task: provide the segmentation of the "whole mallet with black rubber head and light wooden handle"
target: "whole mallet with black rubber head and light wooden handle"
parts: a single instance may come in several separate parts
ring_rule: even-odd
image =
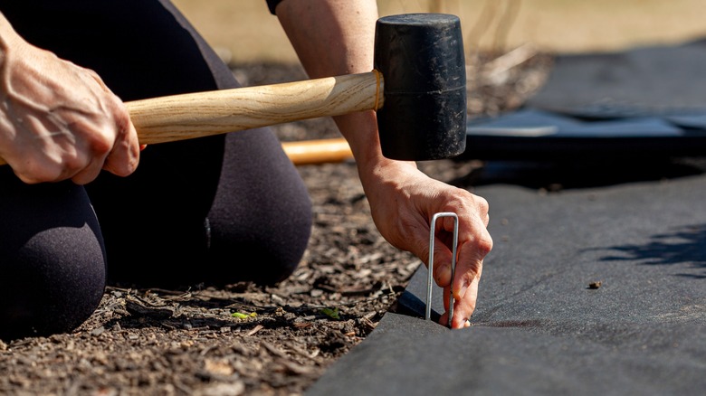
[[[375,36],[374,70],[367,73],[126,102],[139,142],[376,110],[386,157],[423,161],[463,153],[466,73],[459,18],[385,16],[377,20]]]

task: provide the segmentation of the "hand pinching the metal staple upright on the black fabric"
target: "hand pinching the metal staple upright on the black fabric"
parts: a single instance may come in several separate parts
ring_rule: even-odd
[[[428,264],[429,227],[434,213],[458,215],[458,245],[453,279],[453,328],[469,325],[475,309],[483,258],[492,249],[486,227],[488,203],[466,190],[444,184],[419,171],[413,163],[387,161],[373,174],[361,178],[370,203],[373,220],[385,239],[401,250],[415,254]],[[453,218],[436,222],[434,240],[434,279],[444,288],[443,325],[448,324]]]

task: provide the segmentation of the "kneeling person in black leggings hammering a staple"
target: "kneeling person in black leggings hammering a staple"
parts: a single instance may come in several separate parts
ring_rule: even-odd
[[[267,4],[310,78],[372,70],[374,0]],[[106,284],[291,275],[310,238],[311,203],[270,129],[138,142],[125,101],[239,86],[175,5],[0,0],[0,13],[0,338],[75,329]],[[468,325],[492,248],[488,203],[382,156],[375,112],[335,121],[392,245],[426,261],[432,215],[459,215],[453,327]],[[434,278],[448,296],[446,219]]]

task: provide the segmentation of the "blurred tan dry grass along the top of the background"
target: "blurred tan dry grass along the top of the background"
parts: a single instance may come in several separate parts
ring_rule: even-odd
[[[173,0],[206,41],[233,62],[294,62],[264,0]],[[706,36],[703,0],[378,0],[381,15],[444,12],[461,17],[469,50],[616,51]]]

